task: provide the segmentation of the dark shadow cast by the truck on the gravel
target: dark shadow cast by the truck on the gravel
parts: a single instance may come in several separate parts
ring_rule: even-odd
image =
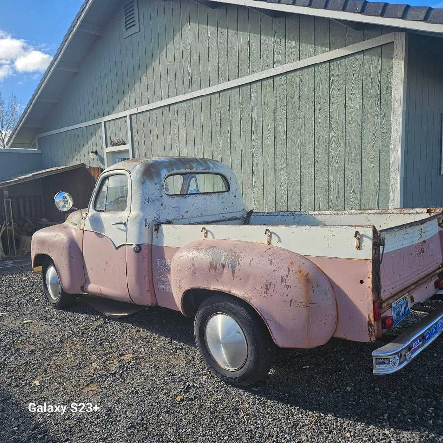
[[[156,307],[119,321],[196,347],[193,318],[178,312]],[[343,420],[436,433],[442,416],[443,362],[438,356],[443,340],[390,376],[372,375],[371,352],[380,346],[333,339],[315,349],[281,350],[266,378],[244,390]]]

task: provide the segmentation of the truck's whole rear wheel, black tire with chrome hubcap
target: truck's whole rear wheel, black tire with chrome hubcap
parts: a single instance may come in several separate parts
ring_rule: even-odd
[[[204,362],[226,383],[251,385],[274,363],[276,346],[262,319],[235,297],[207,298],[195,316],[194,332]]]

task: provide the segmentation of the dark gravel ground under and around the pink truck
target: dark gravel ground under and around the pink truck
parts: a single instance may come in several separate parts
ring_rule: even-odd
[[[179,313],[57,311],[29,264],[0,263],[0,305],[0,442],[443,442],[442,338],[396,375],[371,375],[380,344],[333,340],[238,389],[205,369]]]

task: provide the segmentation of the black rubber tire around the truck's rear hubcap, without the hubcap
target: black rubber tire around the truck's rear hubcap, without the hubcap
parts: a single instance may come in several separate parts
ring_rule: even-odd
[[[205,328],[215,314],[226,314],[240,326],[247,343],[247,357],[236,370],[223,368],[213,358],[206,342]],[[203,301],[194,322],[197,348],[208,368],[221,380],[235,386],[249,386],[262,379],[271,369],[276,346],[265,324],[254,309],[233,296],[219,294]]]

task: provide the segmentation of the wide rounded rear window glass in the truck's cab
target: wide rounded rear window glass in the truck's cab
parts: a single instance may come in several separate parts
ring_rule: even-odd
[[[210,194],[227,192],[229,184],[220,174],[186,173],[166,177],[163,189],[167,195]]]

